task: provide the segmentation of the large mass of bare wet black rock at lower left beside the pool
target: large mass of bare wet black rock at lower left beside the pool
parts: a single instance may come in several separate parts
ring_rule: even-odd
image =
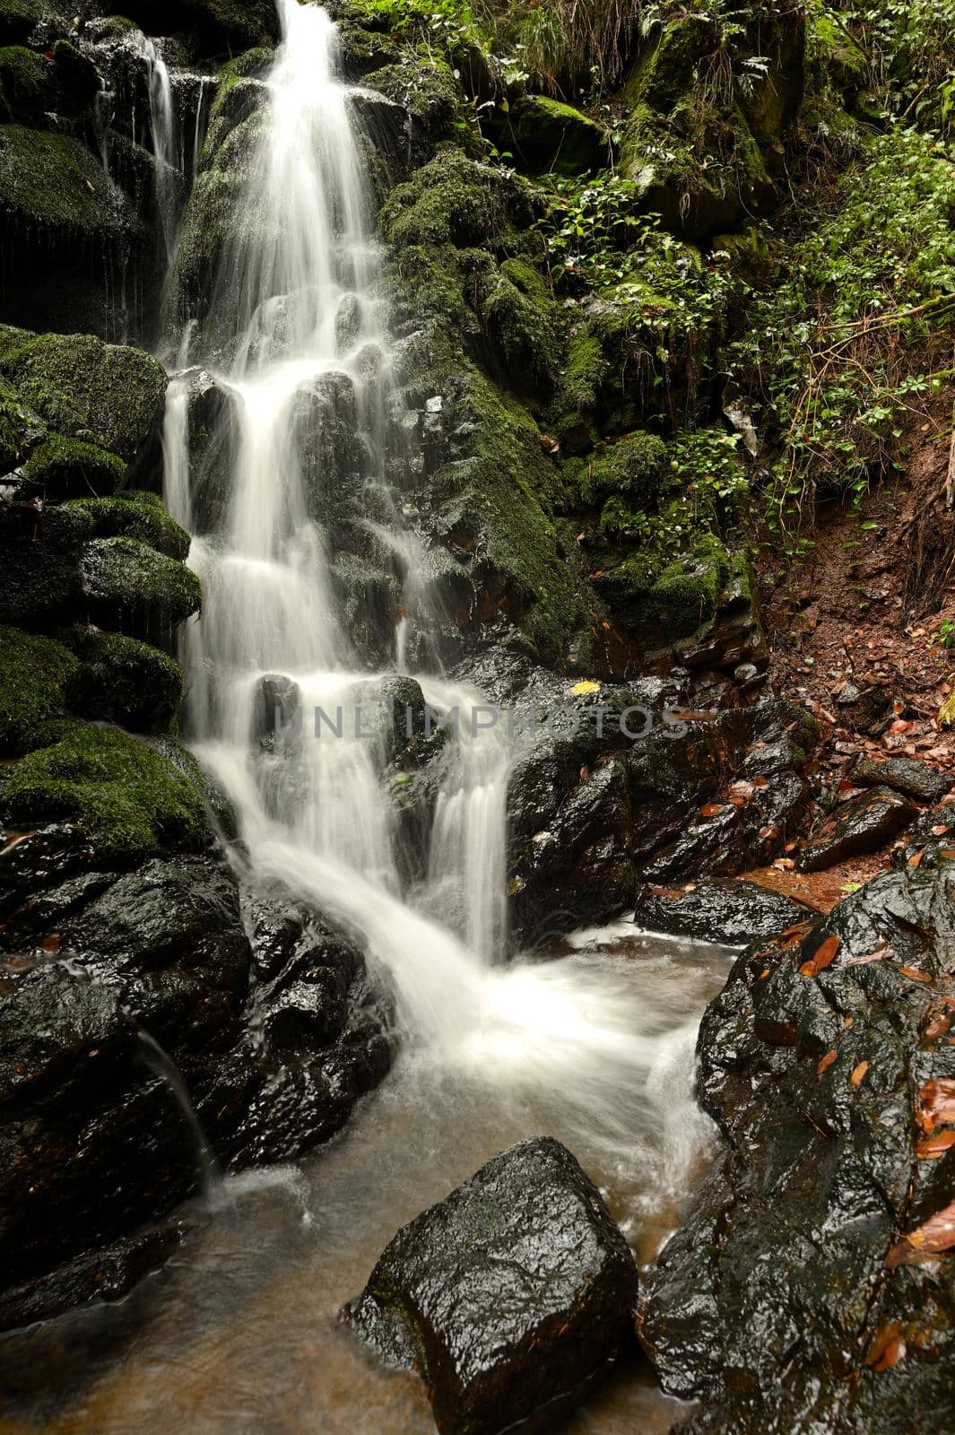
[[[196,1190],[195,1142],[141,1032],[175,1060],[235,1170],[333,1135],[391,1046],[361,956],[281,894],[242,900],[211,851],[118,871],[52,824],[7,841],[0,871],[0,1326],[11,1326],[122,1294],[168,1253],[138,1228]]]

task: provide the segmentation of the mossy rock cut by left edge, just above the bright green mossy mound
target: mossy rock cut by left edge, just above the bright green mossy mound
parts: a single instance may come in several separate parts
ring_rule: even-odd
[[[0,756],[54,742],[66,725],[63,686],[76,659],[49,637],[0,629]]]

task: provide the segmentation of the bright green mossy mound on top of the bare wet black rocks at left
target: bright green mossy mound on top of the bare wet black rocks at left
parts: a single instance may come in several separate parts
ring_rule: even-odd
[[[76,725],[3,773],[6,821],[76,822],[108,860],[201,851],[209,834],[202,798],[162,753],[106,728]]]

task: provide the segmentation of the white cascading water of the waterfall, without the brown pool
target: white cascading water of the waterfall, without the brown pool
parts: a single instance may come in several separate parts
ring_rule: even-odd
[[[437,799],[427,878],[410,893],[394,861],[380,745],[311,738],[315,705],[341,707],[348,719],[371,679],[336,613],[328,534],[297,416],[323,376],[344,376],[336,382],[354,393],[369,479],[380,488],[393,395],[369,197],[348,90],[336,77],[336,30],[320,9],[297,0],[278,0],[278,9],[284,43],[267,82],[245,222],[224,255],[221,309],[211,316],[238,314],[231,367],[218,373],[238,419],[228,511],[189,560],[205,596],[185,649],[195,748],[241,814],[254,874],[354,933],[393,984],[412,1048],[449,1072],[480,1073],[502,1093],[548,1092],[551,1105],[556,1093],[564,1129],[586,1131],[619,1161],[632,1152],[638,1114],[645,1119],[648,1105],[660,1106],[674,1132],[662,1194],[680,1188],[698,1154],[698,1142],[690,1152],[680,1135],[687,1124],[698,1135],[691,1030],[674,1035],[673,1013],[664,1020],[619,971],[579,961],[502,964],[509,752],[498,730],[472,732],[480,695],[416,674],[433,707],[457,709],[460,740]],[[371,364],[369,352],[377,354]],[[318,475],[320,486],[323,476],[331,481]],[[166,498],[188,522],[185,390],[175,382]],[[397,527],[390,534],[379,537],[413,565],[419,541]],[[409,583],[414,588],[406,575],[406,591]],[[409,623],[427,611],[420,584],[414,610],[396,634],[399,657]],[[268,673],[294,680],[305,722],[298,743],[264,755],[251,730]]]

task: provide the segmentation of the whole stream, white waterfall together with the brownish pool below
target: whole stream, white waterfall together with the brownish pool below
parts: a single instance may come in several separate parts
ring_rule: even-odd
[[[300,1167],[231,1177],[181,1257],[120,1306],[70,1313],[3,1346],[16,1370],[4,1432],[430,1431],[410,1378],[377,1369],[336,1329],[394,1230],[526,1135],[552,1134],[604,1190],[648,1257],[705,1159],[691,1098],[693,1042],[726,973],[720,949],[645,938],[631,924],[581,934],[552,960],[505,964],[508,742],[472,733],[480,695],[449,683],[429,651],[419,540],[384,504],[397,397],[376,301],[380,260],[333,23],[278,0],[284,30],[268,76],[245,215],[206,333],[184,336],[231,403],[228,504],[194,540],[204,613],[189,626],[188,733],[241,818],[252,880],[282,884],[354,933],[394,990],[403,1052],[348,1131]],[[156,105],[165,105],[156,70]],[[231,327],[229,327],[231,326]],[[413,604],[390,666],[460,740],[443,769],[426,877],[406,888],[381,745],[311,736],[313,709],[344,732],[383,674],[354,651],[334,600],[323,482],[308,435],[324,396],[346,395],[367,489],[369,534],[404,554]],[[317,416],[317,418],[315,418]],[[186,390],[174,379],[166,501],[194,528]],[[324,448],[321,448],[324,452]],[[410,616],[409,616],[410,614]],[[409,641],[409,624],[424,641]],[[278,674],[305,713],[297,742],[262,751],[260,689]],[[52,1369],[54,1375],[50,1375]],[[598,1395],[572,1429],[665,1429],[647,1379]]]

